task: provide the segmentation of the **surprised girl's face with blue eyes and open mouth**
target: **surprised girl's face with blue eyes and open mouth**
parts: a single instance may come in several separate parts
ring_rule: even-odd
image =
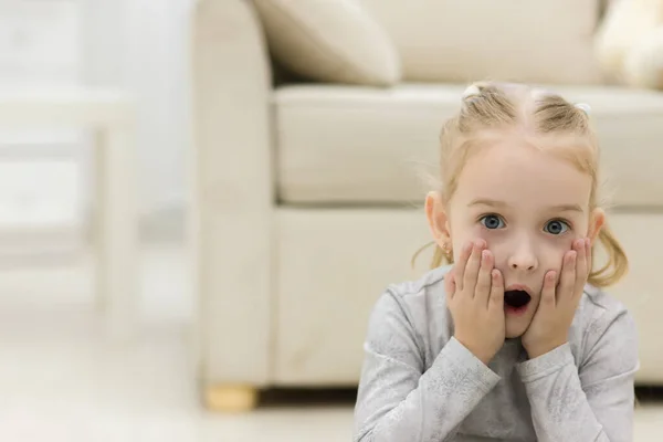
[[[434,211],[438,242],[451,239],[454,261],[463,244],[481,238],[495,256],[505,288],[527,287],[527,307],[505,309],[507,337],[525,333],[539,304],[544,275],[550,270],[559,274],[572,241],[596,238],[603,213],[589,212],[590,191],[591,177],[570,161],[512,137],[472,155],[449,206]]]

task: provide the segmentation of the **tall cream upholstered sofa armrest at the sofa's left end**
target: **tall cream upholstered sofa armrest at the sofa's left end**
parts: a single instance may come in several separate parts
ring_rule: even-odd
[[[191,24],[198,370],[208,386],[260,386],[271,311],[270,60],[250,1],[200,0]]]

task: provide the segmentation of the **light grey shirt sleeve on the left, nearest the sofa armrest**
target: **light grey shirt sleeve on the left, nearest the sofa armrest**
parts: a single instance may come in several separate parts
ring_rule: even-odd
[[[448,441],[499,377],[455,338],[424,372],[417,333],[396,296],[377,303],[364,345],[355,442]]]

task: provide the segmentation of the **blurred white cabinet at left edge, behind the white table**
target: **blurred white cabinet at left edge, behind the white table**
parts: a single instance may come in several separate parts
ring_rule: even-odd
[[[77,19],[76,0],[0,1],[0,88],[76,84]],[[60,241],[80,227],[80,135],[0,128],[0,255],[25,252],[25,239],[43,244],[57,232]]]

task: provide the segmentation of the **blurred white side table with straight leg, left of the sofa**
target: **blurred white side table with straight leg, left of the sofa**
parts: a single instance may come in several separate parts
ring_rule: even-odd
[[[131,336],[138,309],[134,113],[120,92],[0,91],[0,129],[69,127],[95,135],[96,296],[114,339]]]

